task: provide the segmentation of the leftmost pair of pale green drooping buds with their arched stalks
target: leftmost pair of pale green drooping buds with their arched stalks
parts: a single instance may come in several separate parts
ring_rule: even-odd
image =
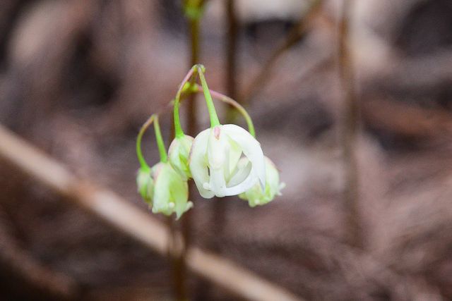
[[[153,122],[160,162],[150,168],[141,153],[141,139],[145,130]],[[176,213],[177,219],[179,219],[185,211],[193,207],[193,203],[188,200],[189,188],[186,180],[174,171],[167,161],[167,153],[160,133],[157,115],[151,116],[141,127],[136,142],[136,152],[141,164],[136,180],[141,197],[152,207],[153,213],[165,215]]]

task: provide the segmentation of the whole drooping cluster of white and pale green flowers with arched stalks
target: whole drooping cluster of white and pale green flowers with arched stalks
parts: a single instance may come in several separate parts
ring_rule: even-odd
[[[256,140],[254,125],[245,109],[233,99],[210,91],[202,65],[195,65],[182,81],[174,98],[175,137],[165,145],[160,132],[158,115],[153,114],[141,127],[136,142],[138,170],[138,192],[153,213],[176,214],[179,219],[193,207],[189,201],[188,180],[193,179],[201,197],[225,197],[238,195],[251,207],[267,204],[280,195],[285,186],[280,182],[275,164],[263,155]],[[199,78],[201,85],[196,83]],[[179,104],[182,97],[190,93],[203,92],[210,117],[210,128],[196,137],[185,135],[179,119]],[[212,96],[232,104],[246,119],[249,130],[234,124],[220,124]],[[148,166],[141,152],[143,133],[154,124],[160,162]]]

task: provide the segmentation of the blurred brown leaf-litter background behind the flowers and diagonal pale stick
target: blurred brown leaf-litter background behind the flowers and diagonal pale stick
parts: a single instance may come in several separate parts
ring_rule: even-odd
[[[256,208],[191,194],[189,219],[172,223],[191,245],[300,300],[452,300],[452,2],[202,5],[194,58],[182,1],[2,0],[1,125],[148,212],[136,135],[162,112],[169,144],[167,104],[197,59],[211,89],[249,109],[287,186]],[[182,114],[199,132],[195,104],[196,124]],[[158,160],[152,131],[144,149]],[[165,256],[1,152],[0,192],[1,300],[173,300]],[[191,300],[242,300],[185,277]]]

